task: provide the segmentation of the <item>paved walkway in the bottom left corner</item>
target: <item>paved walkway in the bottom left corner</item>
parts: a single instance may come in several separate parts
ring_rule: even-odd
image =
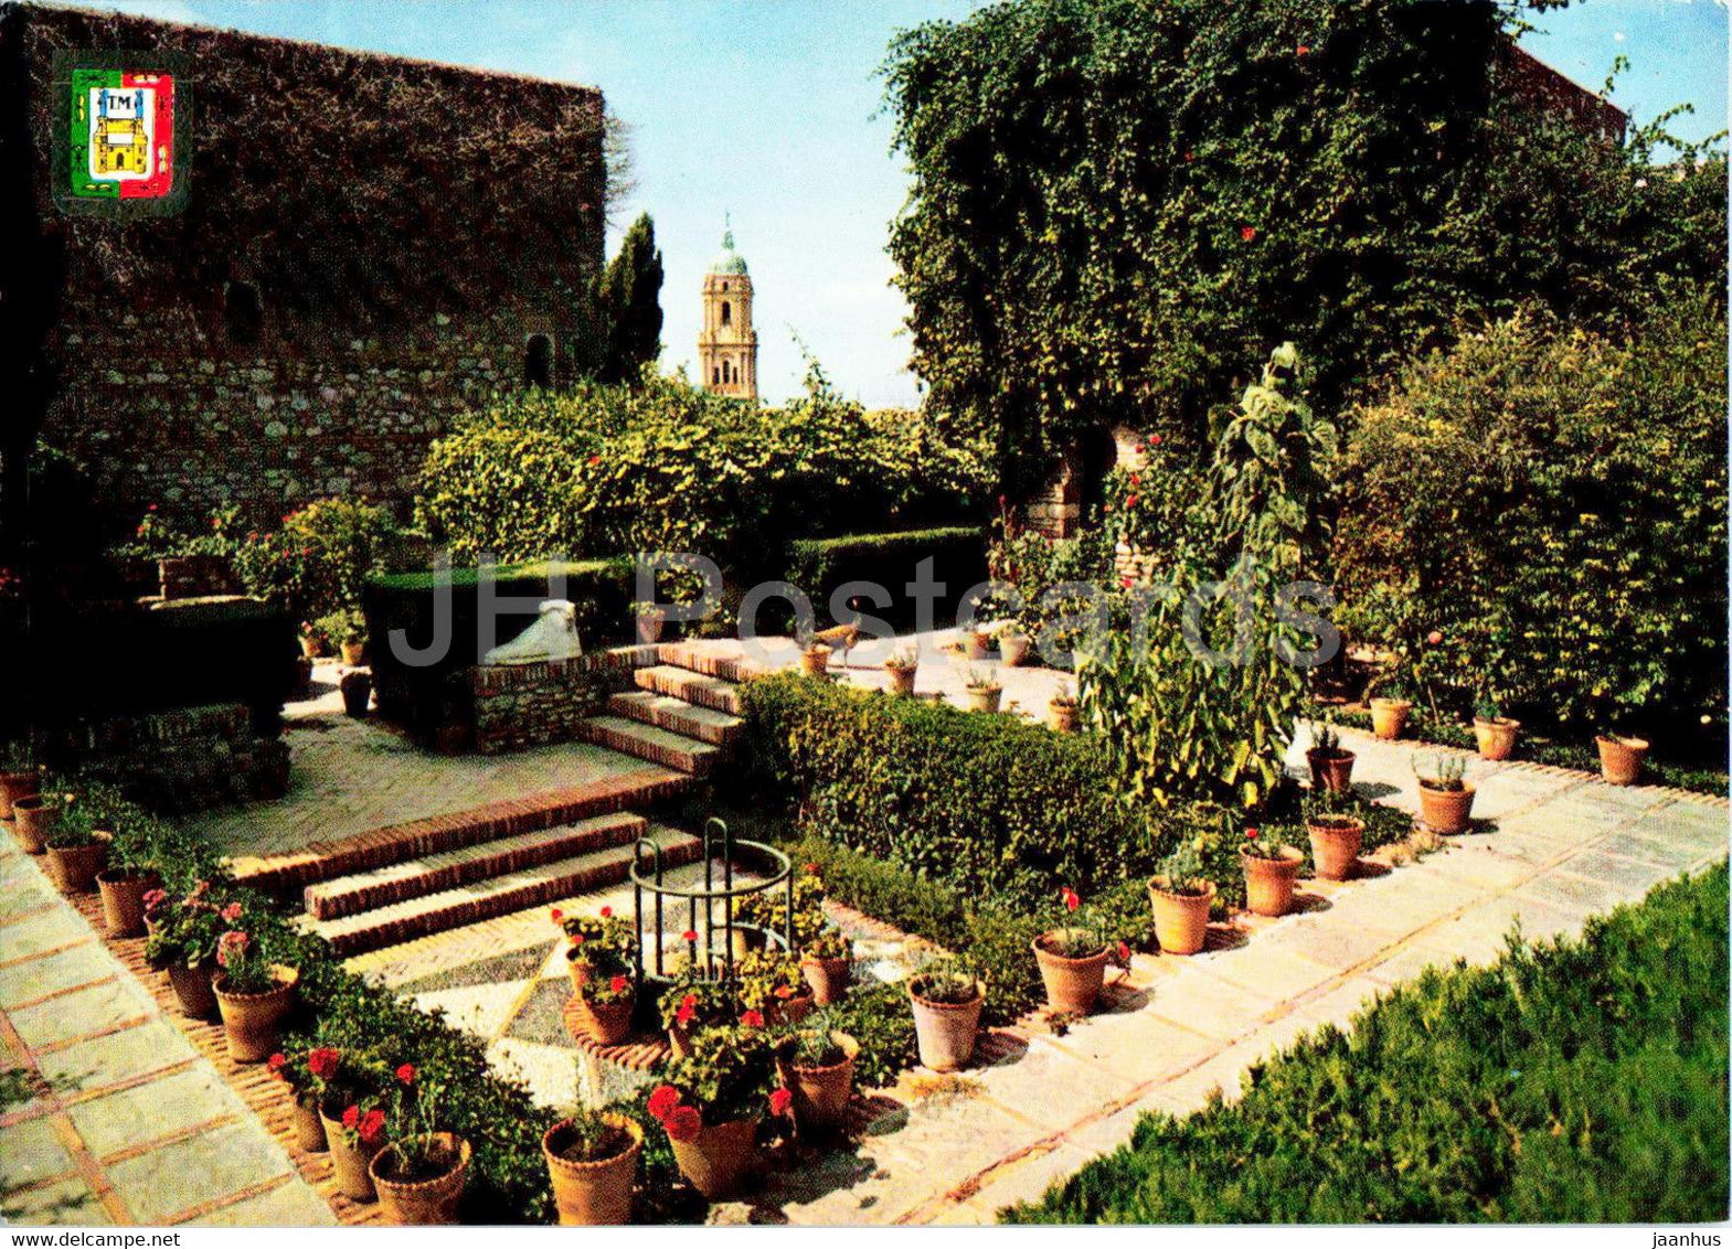
[[[133,942],[142,944],[142,942]],[[216,1065],[0,830],[0,1220],[333,1225]]]

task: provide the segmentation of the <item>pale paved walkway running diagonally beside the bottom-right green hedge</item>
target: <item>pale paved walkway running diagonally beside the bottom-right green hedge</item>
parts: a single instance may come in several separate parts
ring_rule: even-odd
[[[1408,743],[1347,733],[1354,780],[1415,807]],[[1296,760],[1299,750],[1296,748]],[[856,1149],[774,1176],[757,1211],[795,1223],[991,1223],[1089,1157],[1131,1138],[1148,1110],[1185,1114],[1254,1062],[1325,1024],[1346,1024],[1379,993],[1455,958],[1491,961],[1510,925],[1529,937],[1580,932],[1585,918],[1642,897],[1727,854],[1723,800],[1612,788],[1581,773],[1522,764],[1469,769],[1476,816],[1493,832],[1368,878],[1302,885],[1306,909],[1242,920],[1249,941],[1211,941],[1195,958],[1138,956],[1110,1013],[960,1079],[906,1079]]]

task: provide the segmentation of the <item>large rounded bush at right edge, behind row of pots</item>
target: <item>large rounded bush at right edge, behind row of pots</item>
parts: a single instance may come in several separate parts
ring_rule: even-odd
[[[1349,443],[1342,624],[1457,715],[1723,733],[1720,300],[1668,288],[1626,340],[1529,310],[1417,360]]]

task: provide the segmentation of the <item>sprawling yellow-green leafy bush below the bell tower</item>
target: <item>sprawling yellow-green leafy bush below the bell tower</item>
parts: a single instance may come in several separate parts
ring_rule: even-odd
[[[471,414],[430,450],[416,514],[457,560],[693,551],[757,580],[792,534],[958,521],[984,499],[982,457],[937,421],[821,379],[771,409],[653,378]]]

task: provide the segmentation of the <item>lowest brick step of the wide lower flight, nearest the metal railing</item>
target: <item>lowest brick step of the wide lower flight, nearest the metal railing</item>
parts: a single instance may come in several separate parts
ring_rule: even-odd
[[[662,861],[670,866],[696,863],[703,852],[703,842],[672,828],[653,828],[650,840],[662,847]],[[632,845],[610,845],[604,851],[556,859],[461,889],[409,897],[360,915],[345,915],[336,920],[301,916],[296,923],[305,932],[329,941],[338,956],[350,958],[369,949],[397,946],[433,932],[461,929],[511,911],[549,906],[573,894],[617,885],[630,875],[632,851]]]

